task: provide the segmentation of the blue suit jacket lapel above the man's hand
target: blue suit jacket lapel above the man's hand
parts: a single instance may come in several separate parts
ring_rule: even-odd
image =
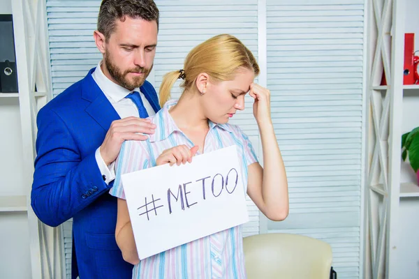
[[[91,102],[90,105],[86,107],[86,112],[107,131],[109,130],[112,121],[121,118],[91,76],[94,70],[95,68],[91,69],[83,79],[82,98]]]

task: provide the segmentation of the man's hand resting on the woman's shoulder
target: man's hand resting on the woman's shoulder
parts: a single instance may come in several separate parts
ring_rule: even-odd
[[[154,134],[155,129],[156,125],[149,119],[140,119],[135,116],[113,121],[101,145],[103,161],[106,165],[110,165],[117,158],[124,141],[147,140],[147,135]]]

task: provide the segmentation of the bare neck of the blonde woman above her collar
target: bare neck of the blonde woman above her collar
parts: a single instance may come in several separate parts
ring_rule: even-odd
[[[200,106],[195,92],[182,93],[177,104],[170,109],[170,115],[180,130],[208,130],[208,119]]]

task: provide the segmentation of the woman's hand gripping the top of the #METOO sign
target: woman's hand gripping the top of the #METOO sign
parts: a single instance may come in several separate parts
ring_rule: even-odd
[[[156,159],[156,165],[164,165],[169,163],[172,165],[186,164],[186,162],[191,163],[192,157],[195,156],[198,151],[198,146],[193,146],[189,149],[186,145],[178,145],[172,147],[171,149],[166,149],[161,153],[159,158]]]

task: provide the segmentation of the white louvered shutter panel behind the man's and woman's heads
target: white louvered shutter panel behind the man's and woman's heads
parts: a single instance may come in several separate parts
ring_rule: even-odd
[[[47,20],[50,35],[50,58],[54,96],[82,79],[102,58],[96,49],[93,31],[101,1],[47,0]],[[184,58],[192,47],[219,33],[230,33],[243,41],[258,56],[257,0],[179,0],[159,1],[161,12],[159,43],[154,70],[149,81],[159,91],[162,77],[170,70],[183,67]],[[179,97],[179,82],[172,97]],[[258,153],[258,128],[247,97],[247,109],[236,114],[232,123],[240,125]],[[259,219],[256,206],[248,199],[250,222],[244,235],[258,234]],[[71,221],[64,226],[67,276],[71,272]]]

